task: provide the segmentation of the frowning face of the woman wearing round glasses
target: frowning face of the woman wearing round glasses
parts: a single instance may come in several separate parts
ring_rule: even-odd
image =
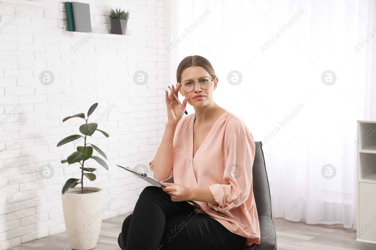
[[[203,76],[211,78],[209,73],[201,66],[191,66],[183,70],[181,81],[192,80],[194,83],[194,89],[190,92],[185,92],[181,87],[179,93],[184,97],[189,97],[188,103],[194,107],[202,107],[208,105],[213,100],[213,91],[217,88],[218,78],[215,78],[210,88],[203,89],[199,87],[198,81]],[[212,79],[212,78],[211,78]],[[180,84],[182,83],[180,82]],[[203,95],[202,98],[194,98],[197,95]]]

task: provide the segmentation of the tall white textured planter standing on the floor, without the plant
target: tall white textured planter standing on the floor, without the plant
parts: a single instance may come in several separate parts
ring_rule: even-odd
[[[97,246],[103,214],[103,189],[71,187],[61,195],[65,228],[71,247],[89,250]]]

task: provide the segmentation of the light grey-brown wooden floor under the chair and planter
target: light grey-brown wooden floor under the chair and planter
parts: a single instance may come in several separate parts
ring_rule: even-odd
[[[121,225],[129,215],[103,220],[97,246],[93,250],[120,250],[117,238],[121,232]],[[308,225],[304,222],[290,222],[283,218],[277,220],[278,250],[375,250],[375,244],[355,241],[356,231],[346,229],[341,225]],[[278,225],[278,224],[277,224]],[[71,250],[66,232],[50,235],[29,241],[8,250]]]

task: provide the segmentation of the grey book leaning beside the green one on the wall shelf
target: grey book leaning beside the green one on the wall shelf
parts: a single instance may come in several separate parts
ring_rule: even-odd
[[[90,6],[72,2],[74,31],[91,32]]]

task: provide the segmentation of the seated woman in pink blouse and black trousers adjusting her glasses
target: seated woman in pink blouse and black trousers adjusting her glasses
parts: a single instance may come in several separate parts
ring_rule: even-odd
[[[168,121],[149,163],[167,187],[147,186],[141,192],[123,222],[121,249],[235,250],[259,244],[252,134],[214,102],[218,78],[206,58],[184,58],[176,79],[176,88],[172,85],[169,95],[166,90]],[[173,93],[185,97],[182,107]],[[187,102],[195,112],[183,117]],[[174,183],[163,182],[171,177]]]

